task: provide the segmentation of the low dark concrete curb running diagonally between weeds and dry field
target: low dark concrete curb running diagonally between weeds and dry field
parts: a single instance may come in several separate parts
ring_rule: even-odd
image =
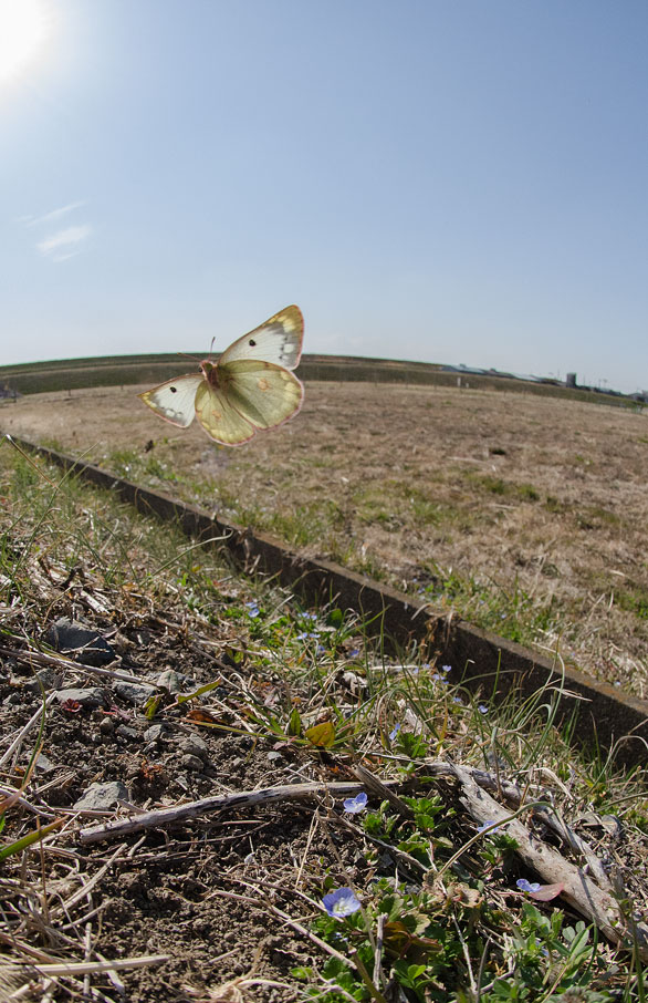
[[[335,600],[343,609],[355,610],[370,622],[370,635],[386,649],[397,651],[416,643],[426,658],[452,665],[453,681],[461,680],[473,691],[481,689],[489,697],[503,699],[518,687],[523,695],[530,695],[562,679],[556,664],[543,655],[459,619],[439,617],[418,599],[339,565],[305,558],[265,534],[211,518],[198,508],[138,487],[84,461],[13,438],[23,448],[115,492],[140,513],[176,523],[187,535],[206,541],[224,537],[219,546],[226,547],[247,572],[276,576],[305,601]],[[648,762],[647,701],[575,669],[565,669],[564,689],[560,718],[577,717],[573,727],[576,744],[590,748],[598,745],[605,751],[616,744],[615,762],[630,766]]]

